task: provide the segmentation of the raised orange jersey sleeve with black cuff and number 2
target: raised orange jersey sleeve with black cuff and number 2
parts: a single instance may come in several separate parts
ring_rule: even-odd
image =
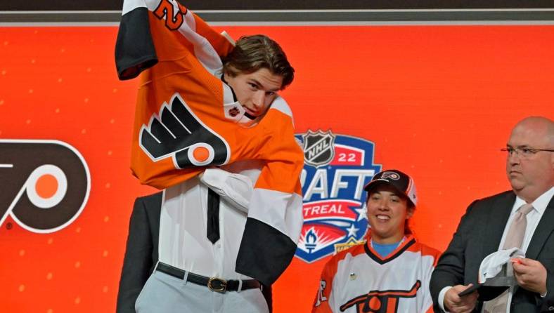
[[[164,44],[157,44],[163,39]],[[199,48],[200,47],[200,48]],[[115,65],[121,80],[133,79],[157,62],[188,53],[205,67],[221,67],[219,56],[233,48],[192,11],[174,0],[125,0],[115,44]]]

